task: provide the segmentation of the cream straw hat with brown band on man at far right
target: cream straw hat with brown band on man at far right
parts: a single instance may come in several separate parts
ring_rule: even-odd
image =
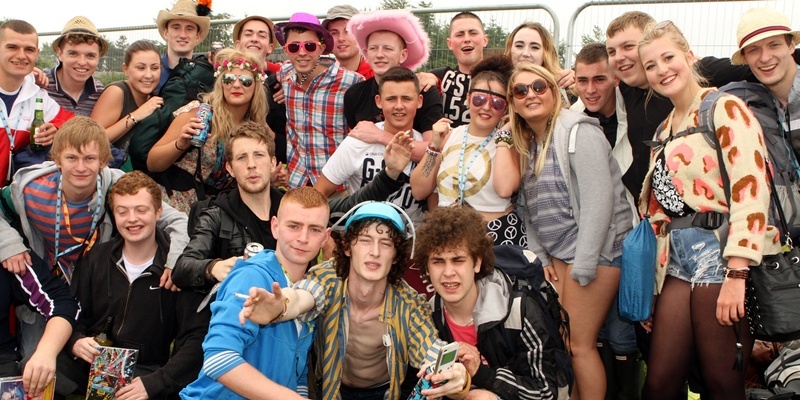
[[[736,43],[739,50],[731,56],[732,64],[746,64],[742,56],[745,47],[772,36],[792,35],[795,44],[800,43],[800,31],[793,31],[789,18],[771,8],[752,8],[742,14],[736,28]]]

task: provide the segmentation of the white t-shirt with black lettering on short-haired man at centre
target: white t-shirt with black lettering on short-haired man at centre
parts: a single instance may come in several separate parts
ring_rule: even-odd
[[[383,122],[375,124],[378,129],[383,129]],[[421,141],[422,134],[413,131],[414,140]],[[369,144],[353,137],[346,137],[342,144],[336,148],[331,158],[322,168],[322,174],[331,183],[341,185],[347,182],[350,193],[354,193],[362,186],[370,183],[372,179],[383,169],[383,152],[386,146],[382,144]],[[411,170],[417,163],[410,162],[406,165],[403,172],[411,175]],[[406,183],[397,192],[389,196],[386,201],[390,201],[408,214],[409,218],[416,224],[422,221],[422,202],[414,200],[411,195],[411,184]]]

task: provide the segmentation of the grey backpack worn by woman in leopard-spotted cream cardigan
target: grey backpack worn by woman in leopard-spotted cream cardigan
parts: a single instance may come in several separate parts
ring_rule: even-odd
[[[702,133],[706,142],[716,148],[717,138],[714,127],[714,109],[717,100],[724,94],[734,95],[750,108],[764,132],[767,153],[773,171],[776,193],[789,227],[800,225],[800,165],[789,142],[787,133],[778,122],[778,110],[769,90],[761,84],[733,82],[722,86],[703,98],[698,110],[698,126],[687,134]],[[659,127],[659,130],[661,128]],[[656,136],[657,138],[658,136]],[[770,211],[770,222],[777,221],[776,210]],[[783,232],[784,235],[786,232]]]

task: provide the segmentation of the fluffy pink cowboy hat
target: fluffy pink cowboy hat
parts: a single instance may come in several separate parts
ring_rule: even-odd
[[[381,10],[360,13],[347,23],[350,32],[358,43],[361,54],[366,56],[367,38],[377,31],[398,34],[406,43],[408,58],[400,65],[414,71],[428,61],[430,39],[419,18],[406,10]]]

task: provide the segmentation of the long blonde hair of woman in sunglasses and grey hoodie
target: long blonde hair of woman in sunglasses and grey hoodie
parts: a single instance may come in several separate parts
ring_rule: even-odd
[[[530,146],[531,141],[534,140],[533,129],[531,129],[530,125],[528,125],[528,122],[520,117],[520,115],[517,114],[517,111],[514,109],[513,88],[514,85],[518,83],[517,77],[522,72],[531,72],[544,79],[548,85],[547,94],[553,97],[553,113],[550,114],[550,119],[548,120],[546,128],[547,130],[542,139],[542,151],[540,152],[540,157],[537,157],[536,165],[533,169],[534,173],[538,175],[539,171],[541,171],[542,167],[544,166],[544,160],[546,158],[544,155],[547,154],[547,149],[550,147],[550,142],[553,139],[553,127],[556,124],[556,119],[558,119],[558,114],[561,112],[561,109],[565,107],[565,103],[564,99],[561,97],[561,93],[558,90],[556,78],[547,69],[531,63],[522,63],[514,69],[514,73],[511,74],[511,79],[508,81],[506,97],[508,98],[508,104],[510,105],[512,111],[509,113],[511,137],[514,141],[514,148],[517,149],[517,152],[519,153],[520,174],[525,174],[525,169],[528,167],[528,163],[530,163]],[[531,89],[528,88],[528,90]]]

